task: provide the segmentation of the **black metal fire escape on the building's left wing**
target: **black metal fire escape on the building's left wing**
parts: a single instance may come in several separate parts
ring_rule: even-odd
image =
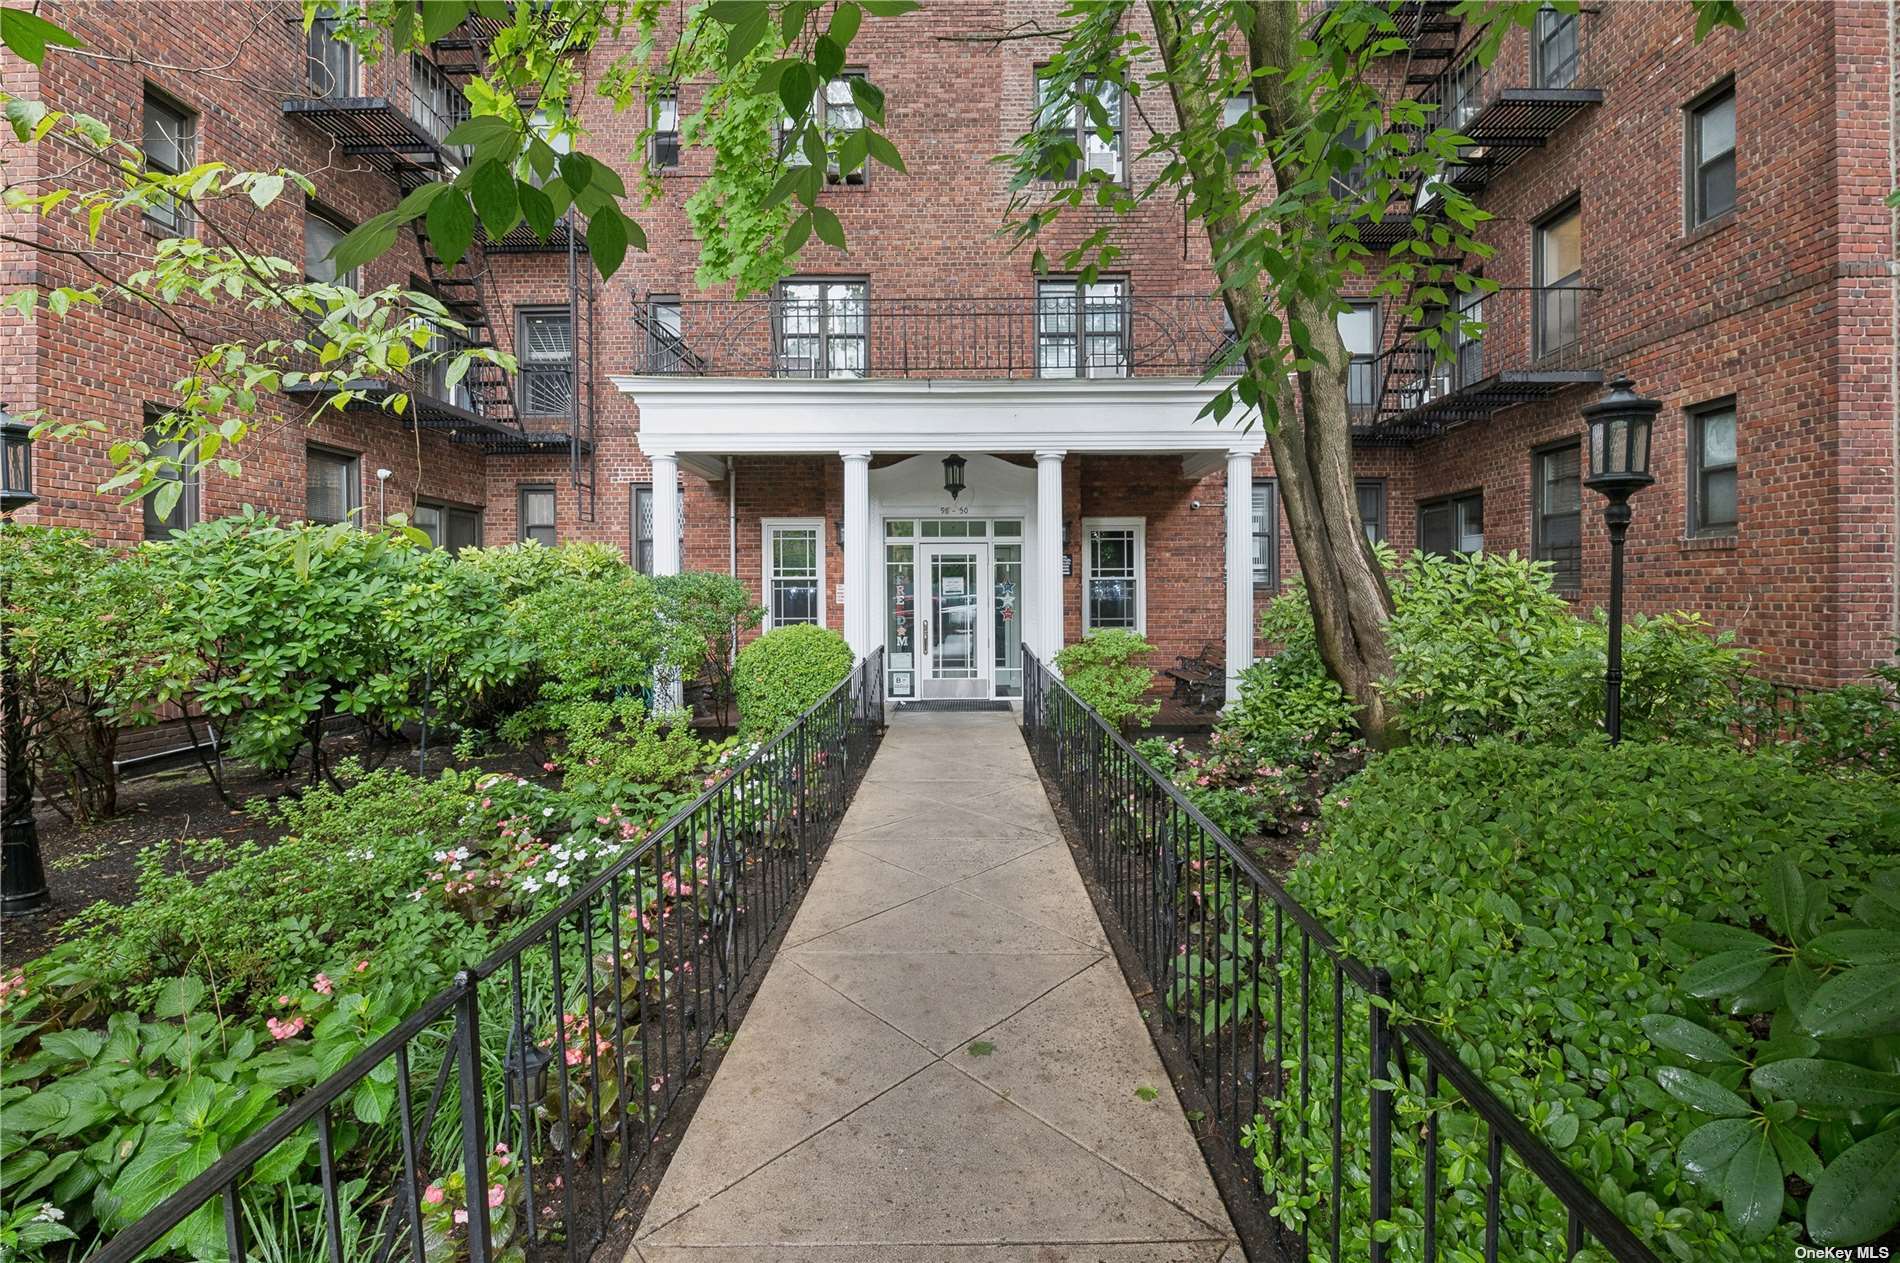
[[[428,55],[365,65],[353,47],[334,38],[332,23],[317,21],[308,40],[308,95],[283,103],[287,118],[300,120],[327,135],[340,156],[355,158],[386,175],[401,194],[431,180],[454,179],[467,160],[462,146],[446,142],[467,118],[462,84],[477,74],[494,23],[473,17],[429,46]],[[439,329],[452,348],[498,349],[496,321],[505,319],[492,260],[504,254],[566,254],[568,355],[553,389],[545,382],[538,399],[560,399],[560,410],[524,410],[519,374],[477,359],[467,374],[450,384],[446,365],[429,361],[405,380],[352,382],[363,406],[380,408],[388,395],[403,391],[408,408],[403,425],[446,435],[494,456],[566,456],[583,522],[595,520],[595,287],[585,260],[583,228],[574,213],[547,241],[524,226],[490,241],[477,234],[475,245],[446,262],[428,237],[424,220],[410,226],[424,272],[410,277],[412,289],[433,294],[462,329]],[[431,344],[431,346],[439,346]],[[519,348],[517,348],[519,351]]]

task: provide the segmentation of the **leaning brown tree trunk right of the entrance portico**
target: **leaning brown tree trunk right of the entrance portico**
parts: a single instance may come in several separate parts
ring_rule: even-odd
[[[1168,87],[1180,118],[1220,118],[1220,103],[1208,99],[1203,87],[1212,80],[1205,65],[1206,44],[1182,27],[1180,9],[1168,0],[1150,0],[1155,23],[1155,42],[1167,66]],[[1281,0],[1256,0],[1250,21],[1248,63],[1256,72],[1256,108],[1262,110],[1271,135],[1290,135],[1303,125],[1305,103],[1286,89],[1281,66],[1292,63],[1296,23],[1302,6]],[[1260,74],[1273,68],[1269,74]],[[1212,112],[1212,114],[1208,114]],[[1233,207],[1235,199],[1222,192],[1231,175],[1218,173],[1201,154],[1184,152],[1188,179],[1195,201],[1205,207]],[[1227,169],[1231,171],[1231,169]],[[1292,163],[1275,169],[1281,186],[1305,173]],[[1216,209],[1203,215],[1214,258],[1243,258],[1241,243],[1246,226],[1231,211]],[[1222,292],[1235,329],[1258,329],[1256,317],[1267,306],[1260,285],[1262,268],[1244,262],[1233,266],[1233,275],[1222,277]],[[1393,745],[1396,733],[1379,693],[1379,680],[1391,670],[1385,648],[1385,621],[1393,612],[1391,589],[1379,570],[1358,520],[1358,496],[1353,486],[1353,422],[1347,408],[1345,344],[1324,300],[1296,296],[1281,313],[1290,325],[1298,321],[1309,334],[1317,370],[1298,374],[1300,391],[1279,378],[1277,348],[1248,340],[1244,372],[1258,387],[1260,399],[1279,401],[1279,425],[1267,431],[1273,452],[1273,473],[1279,479],[1281,503],[1300,558],[1300,574],[1307,600],[1313,606],[1313,631],[1326,669],[1358,707],[1358,726],[1374,746]]]

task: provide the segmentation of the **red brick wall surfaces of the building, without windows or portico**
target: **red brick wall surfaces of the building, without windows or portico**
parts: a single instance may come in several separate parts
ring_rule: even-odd
[[[1003,222],[1007,171],[988,161],[1022,131],[1034,101],[1034,68],[1047,55],[1036,40],[954,40],[948,32],[1003,30],[1049,15],[1043,0],[939,0],[927,19],[872,21],[853,44],[889,99],[887,133],[908,175],[882,167],[863,186],[834,188],[849,253],[813,243],[800,262],[808,275],[868,279],[874,298],[994,298],[1034,294],[1026,251],[994,230]],[[0,84],[55,106],[86,108],[118,133],[137,137],[141,103],[156,89],[198,116],[198,154],[238,169],[294,167],[321,190],[321,203],[361,220],[393,203],[397,190],[361,160],[344,156],[308,122],[287,118],[281,103],[300,95],[304,36],[294,4],[46,4],[74,28],[87,53],[53,53],[44,72],[0,61]],[[1480,203],[1495,218],[1484,237],[1495,247],[1486,275],[1505,285],[1531,283],[1531,224],[1548,209],[1583,207],[1585,281],[1590,304],[1581,353],[1606,372],[1628,372],[1664,401],[1657,427],[1657,486],[1636,498],[1630,536],[1636,610],[1687,608],[1763,653],[1763,669],[1784,678],[1828,682],[1860,674],[1890,657],[1896,631],[1896,277],[1894,213],[1881,205],[1900,184],[1894,171],[1892,27],[1879,4],[1752,4],[1746,32],[1721,30],[1702,44],[1682,6],[1607,6],[1585,21],[1585,80],[1604,101],[1568,122],[1548,144],[1499,175]],[[1140,21],[1146,21],[1142,17]],[[1528,40],[1514,34],[1493,74],[1524,78]],[[175,70],[196,66],[200,70]],[[378,70],[382,74],[382,70]],[[1714,224],[1683,230],[1683,106],[1733,76],[1737,91],[1737,209]],[[680,112],[692,114],[699,89],[686,85]],[[1161,112],[1159,95],[1144,108]],[[629,156],[642,106],[616,114],[589,97],[589,152]],[[1130,112],[1129,152],[1144,148]],[[30,163],[57,165],[59,146],[15,148],[8,180],[32,177]],[[629,186],[635,173],[629,171]],[[378,507],[376,469],[390,469],[382,507],[407,513],[418,498],[481,507],[484,541],[519,536],[522,486],[555,486],[559,536],[631,547],[631,484],[650,479],[638,446],[636,399],[610,374],[636,361],[635,308],[654,294],[688,300],[703,292],[694,272],[684,199],[699,186],[711,156],[684,150],[661,192],[638,211],[650,251],[631,254],[608,283],[591,279],[581,260],[591,317],[591,355],[581,367],[593,386],[593,444],[583,460],[568,452],[500,454],[416,435],[374,412],[323,412],[293,397],[272,397],[258,433],[241,456],[241,479],[207,473],[203,513],[255,503],[287,517],[304,513],[310,444],[357,454],[361,503]],[[1132,163],[1134,184],[1157,160]],[[253,247],[298,258],[302,199],[287,196],[268,211],[241,198],[213,217],[222,232]],[[0,243],[8,289],[38,283],[84,285],[86,270],[59,249],[80,245],[70,217],[34,224],[6,213],[6,232],[34,237],[34,253]],[[1178,203],[1153,199],[1127,218],[1074,211],[1043,241],[1049,256],[1106,226],[1119,247],[1115,270],[1136,296],[1206,294],[1212,289],[1203,234],[1184,222]],[[142,253],[150,234],[135,220],[110,220],[103,243]],[[490,253],[494,338],[513,349],[521,306],[566,304],[568,260],[560,253]],[[378,260],[365,285],[407,281],[424,268],[414,241]],[[171,319],[196,338],[226,332],[218,317],[180,304],[158,313],[106,300],[66,319],[23,325],[0,319],[4,403],[48,408],[55,418],[97,418],[101,439],[46,443],[40,448],[42,501],[25,517],[87,526],[106,539],[141,537],[137,505],[101,496],[106,446],[135,437],[146,403],[169,399],[186,372],[190,346]],[[228,317],[226,317],[228,319]],[[1497,304],[1486,338],[1488,365],[1530,367],[1528,332]],[[1520,348],[1522,353],[1514,353]],[[874,372],[876,372],[874,361]],[[1499,410],[1410,446],[1368,444],[1358,477],[1385,488],[1385,534],[1400,551],[1416,543],[1417,503],[1463,490],[1484,494],[1486,547],[1531,547],[1530,460],[1533,448],[1579,435],[1577,406],[1594,393],[1571,389]],[[1738,528],[1733,537],[1685,537],[1685,410],[1733,397],[1738,416]],[[760,575],[760,520],[825,517],[826,549],[836,556],[842,522],[842,465],[836,460],[735,454],[737,479],[707,482],[682,475],[684,564]],[[1256,462],[1256,484],[1271,479]],[[1064,465],[1064,518],[1142,517],[1148,536],[1148,632],[1163,655],[1195,653],[1222,642],[1222,475],[1199,482],[1167,460],[1070,456]],[[1604,598],[1604,532],[1598,505],[1585,494],[1585,604]],[[728,511],[735,511],[735,522]],[[1064,585],[1066,634],[1081,634],[1079,541]],[[1292,541],[1281,524],[1281,581],[1298,575]],[[832,583],[836,570],[830,572]],[[1264,585],[1258,600],[1271,594]],[[826,623],[842,610],[826,591]]]

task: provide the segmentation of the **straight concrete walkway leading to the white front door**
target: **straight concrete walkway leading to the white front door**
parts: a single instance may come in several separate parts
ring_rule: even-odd
[[[1241,1257],[1015,716],[899,714],[629,1263]]]

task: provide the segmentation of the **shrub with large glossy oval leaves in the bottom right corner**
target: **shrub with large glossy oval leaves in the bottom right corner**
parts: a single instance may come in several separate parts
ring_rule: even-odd
[[[1742,917],[1664,934],[1695,957],[1682,990],[1718,1003],[1644,1018],[1693,1128],[1678,1164],[1746,1240],[1786,1204],[1816,1246],[1860,1246],[1900,1225],[1900,868],[1849,908],[1776,860],[1752,902],[1761,933]]]

